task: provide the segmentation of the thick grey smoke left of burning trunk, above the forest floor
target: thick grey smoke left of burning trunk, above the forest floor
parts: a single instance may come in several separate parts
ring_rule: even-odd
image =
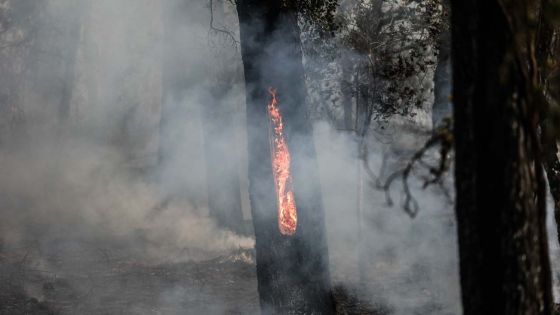
[[[3,239],[125,242],[155,261],[201,259],[201,253],[252,246],[252,240],[217,230],[205,209],[205,173],[197,94],[185,90],[167,108],[178,116],[172,135],[159,137],[162,105],[162,3],[84,1],[76,66],[67,70],[57,53],[71,39],[71,2],[49,1],[38,32],[24,94],[27,137],[2,152]],[[207,16],[204,6],[191,6]],[[57,21],[57,22],[53,22]],[[188,17],[187,17],[188,20]],[[211,48],[207,25],[187,25],[181,45],[192,49],[176,67],[204,78],[200,61]],[[198,68],[197,67],[198,65]],[[68,121],[60,121],[66,71],[74,71]],[[32,72],[34,71],[34,72]],[[229,96],[228,96],[229,97]],[[232,103],[239,100],[231,96]],[[213,139],[227,141],[226,139]],[[160,150],[160,143],[173,143]],[[166,148],[171,147],[170,145]],[[241,148],[240,148],[241,149]],[[163,155],[163,156],[162,156]],[[165,164],[156,169],[158,161]],[[201,167],[202,166],[202,167]],[[47,250],[47,249],[45,249]]]

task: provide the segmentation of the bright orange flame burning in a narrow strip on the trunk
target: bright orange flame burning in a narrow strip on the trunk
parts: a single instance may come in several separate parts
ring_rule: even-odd
[[[284,125],[278,108],[276,90],[268,89],[272,99],[268,104],[270,119],[270,151],[272,156],[272,173],[278,201],[278,228],[284,235],[294,235],[297,226],[297,208],[292,189],[290,174],[290,151],[284,139]]]

